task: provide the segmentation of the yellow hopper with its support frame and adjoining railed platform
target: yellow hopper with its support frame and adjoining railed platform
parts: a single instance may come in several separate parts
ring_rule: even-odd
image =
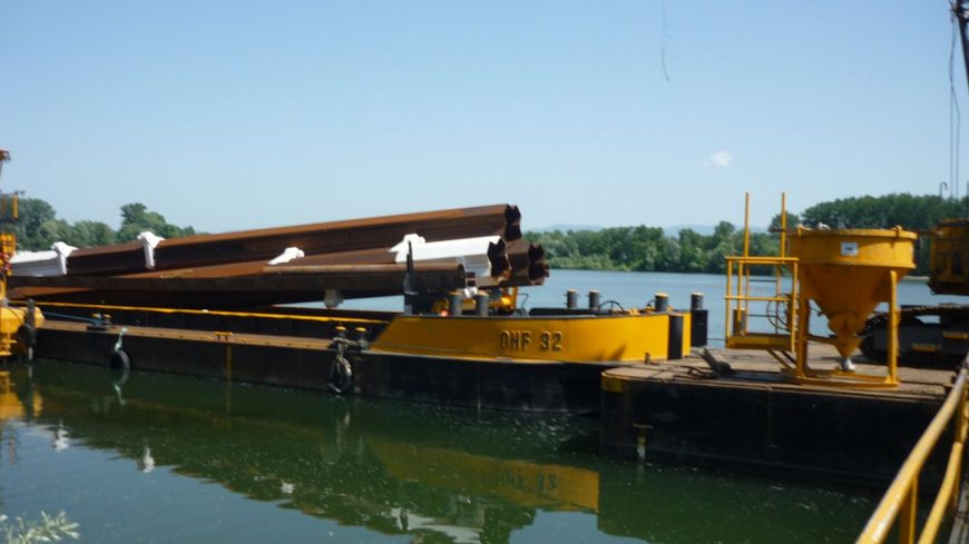
[[[744,210],[744,255],[727,257],[725,344],[734,349],[764,349],[795,382],[844,387],[898,385],[897,287],[914,268],[914,233],[894,229],[819,229],[799,227],[786,233],[786,195],[781,196],[780,257],[747,254],[750,196]],[[790,250],[790,251],[789,251]],[[774,293],[755,293],[751,270],[772,267]],[[783,279],[790,278],[790,288]],[[770,281],[770,280],[769,280]],[[811,335],[811,303],[828,317],[833,338]],[[859,333],[879,303],[889,303],[888,375],[814,370],[807,365],[809,340],[834,345],[850,357],[861,343]],[[769,330],[751,330],[752,318],[766,317]],[[793,355],[792,355],[793,354]],[[793,362],[787,365],[785,362]]]

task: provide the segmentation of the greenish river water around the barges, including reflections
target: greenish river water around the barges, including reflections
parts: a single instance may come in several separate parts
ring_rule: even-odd
[[[662,290],[685,307],[704,291],[712,329],[724,288],[720,276],[557,270],[527,305],[593,287],[625,306]],[[908,303],[934,300],[909,289]],[[97,543],[853,542],[880,500],[600,455],[594,419],[119,379],[69,363],[4,369],[0,538],[17,517],[63,511]]]

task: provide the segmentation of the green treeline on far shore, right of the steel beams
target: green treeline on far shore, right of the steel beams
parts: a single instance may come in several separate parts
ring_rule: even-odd
[[[908,194],[844,198],[787,215],[787,227],[891,228],[929,230],[946,218],[966,217],[969,202]],[[780,215],[771,227],[780,226]],[[721,221],[712,235],[683,229],[665,236],[659,227],[613,227],[601,230],[530,231],[526,238],[545,247],[552,268],[722,274],[724,257],[743,253],[743,231]],[[917,251],[916,274],[928,270],[929,245]],[[777,255],[776,234],[752,233],[751,255]]]

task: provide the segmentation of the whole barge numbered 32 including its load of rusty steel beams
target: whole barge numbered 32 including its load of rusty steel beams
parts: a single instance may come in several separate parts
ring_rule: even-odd
[[[143,233],[14,257],[3,279],[14,304],[43,313],[22,343],[41,358],[479,409],[597,412],[604,370],[705,343],[705,310],[665,296],[625,309],[591,291],[579,308],[572,291],[564,308],[521,308],[519,288],[544,283],[548,265],[520,218],[506,204]],[[388,295],[401,311],[339,308]]]

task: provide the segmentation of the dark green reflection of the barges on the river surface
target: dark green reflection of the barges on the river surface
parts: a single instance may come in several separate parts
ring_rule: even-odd
[[[473,414],[139,373],[119,384],[102,368],[55,363],[38,365],[32,379],[14,367],[12,382],[0,414],[18,422],[14,431],[49,434],[58,458],[110,452],[111,463],[128,464],[143,481],[215,483],[268,506],[260,515],[271,523],[273,512],[296,511],[364,527],[369,541],[537,542],[552,530],[575,540],[570,531],[578,530],[568,527],[589,516],[595,540],[776,542],[783,530],[786,542],[839,534],[848,541],[874,501],[601,459],[591,453],[596,422],[579,418]],[[90,476],[78,471],[68,483],[111,485],[100,468],[84,466]],[[9,467],[0,462],[2,469]],[[151,503],[150,495],[141,501],[165,526],[204,523],[187,506]],[[77,508],[72,518],[84,520]],[[544,515],[550,512],[558,514]],[[246,536],[242,527],[222,531],[227,534],[218,540]],[[539,536],[526,536],[534,533]]]

